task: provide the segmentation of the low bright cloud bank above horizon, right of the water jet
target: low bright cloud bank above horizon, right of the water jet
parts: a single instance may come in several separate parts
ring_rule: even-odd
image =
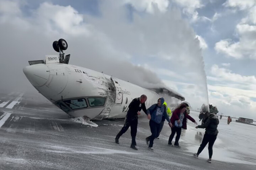
[[[233,73],[232,70],[213,65],[210,71],[212,76],[208,80],[215,81],[208,84],[209,102],[219,107],[220,112],[256,118],[254,109],[256,102],[256,77],[243,76]]]

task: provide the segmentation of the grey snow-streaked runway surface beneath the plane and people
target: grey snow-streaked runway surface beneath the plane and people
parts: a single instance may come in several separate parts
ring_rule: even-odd
[[[200,132],[193,134],[193,140],[198,141],[195,145],[185,142],[190,136],[189,130],[182,132],[182,148],[178,149],[167,145],[171,131],[164,127],[163,135],[155,140],[154,152],[151,152],[145,142],[150,135],[149,125],[145,118],[140,118],[136,137],[138,150],[135,151],[130,148],[130,130],[120,138],[120,144],[114,143],[124,119],[93,121],[98,127],[92,127],[72,121],[40,94],[0,95],[1,170],[255,170],[256,159],[250,155],[241,157],[248,157],[246,160],[251,164],[217,161],[214,156],[209,164],[205,157],[194,158],[189,147],[198,149]],[[191,123],[189,125],[192,127]],[[205,150],[207,153],[207,148]]]

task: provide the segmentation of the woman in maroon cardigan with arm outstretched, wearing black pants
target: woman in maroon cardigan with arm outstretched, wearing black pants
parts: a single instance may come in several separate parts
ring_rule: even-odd
[[[171,117],[171,123],[173,124],[172,133],[171,133],[171,135],[169,137],[169,141],[168,141],[168,145],[170,145],[170,146],[173,146],[172,140],[173,140],[175,133],[177,133],[174,146],[180,148],[179,139],[180,139],[180,135],[181,135],[181,128],[187,129],[186,118],[188,118],[190,121],[197,124],[197,122],[194,120],[194,118],[189,116],[185,112],[185,110],[186,110],[186,105],[182,104],[177,109],[175,109],[173,112],[173,115]]]

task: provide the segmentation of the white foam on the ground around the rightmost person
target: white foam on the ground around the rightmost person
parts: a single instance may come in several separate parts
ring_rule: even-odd
[[[198,112],[190,111],[190,116],[201,125],[198,115]],[[212,160],[256,165],[256,127],[236,122],[227,125],[227,117],[222,117],[219,121],[219,134],[213,145]],[[196,129],[195,127],[196,125],[188,121],[187,130],[181,136],[188,144],[183,147],[193,153],[197,152],[205,133],[205,129]],[[208,159],[208,157],[208,145],[206,145],[199,158]]]

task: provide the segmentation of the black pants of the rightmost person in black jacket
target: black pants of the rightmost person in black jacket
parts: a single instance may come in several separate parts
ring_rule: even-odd
[[[203,141],[197,151],[197,155],[199,155],[203,150],[204,150],[204,147],[207,145],[207,143],[209,142],[208,144],[208,151],[209,151],[209,158],[212,157],[212,147],[213,147],[213,144],[215,142],[217,138],[217,135],[209,135],[209,134],[204,134],[204,138],[203,138]]]

